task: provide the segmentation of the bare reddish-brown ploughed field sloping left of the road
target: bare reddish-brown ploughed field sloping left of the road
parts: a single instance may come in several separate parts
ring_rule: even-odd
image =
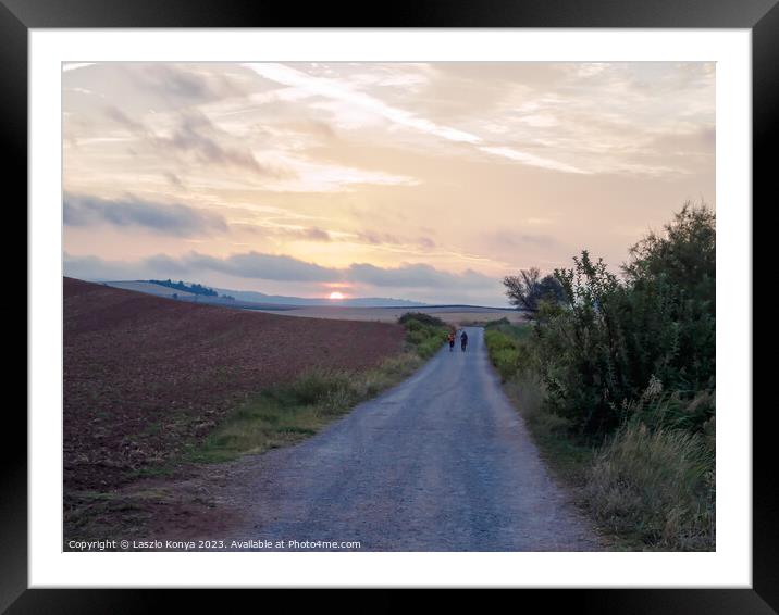
[[[107,491],[199,441],[243,399],[302,371],[361,371],[400,325],[290,318],[63,280],[64,488]]]

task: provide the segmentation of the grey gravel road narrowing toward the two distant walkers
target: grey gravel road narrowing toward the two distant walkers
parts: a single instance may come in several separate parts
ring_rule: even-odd
[[[422,369],[292,448],[247,460],[236,540],[362,551],[589,551],[591,525],[545,469],[467,328]]]

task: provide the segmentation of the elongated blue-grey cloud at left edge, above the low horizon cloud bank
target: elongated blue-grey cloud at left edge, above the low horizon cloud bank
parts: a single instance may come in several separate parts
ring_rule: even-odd
[[[227,230],[225,219],[211,212],[173,203],[136,199],[100,199],[65,193],[63,219],[67,226],[108,224],[118,227],[140,227],[160,235],[195,237]]]

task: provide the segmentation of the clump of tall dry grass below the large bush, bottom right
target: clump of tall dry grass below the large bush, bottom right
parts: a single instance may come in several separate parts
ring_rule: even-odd
[[[627,423],[597,454],[585,495],[598,520],[652,548],[715,548],[714,452],[700,435]]]

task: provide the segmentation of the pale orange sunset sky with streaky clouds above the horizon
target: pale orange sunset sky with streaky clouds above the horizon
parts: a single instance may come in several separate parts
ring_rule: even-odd
[[[715,202],[713,63],[73,63],[65,275],[507,305]]]

